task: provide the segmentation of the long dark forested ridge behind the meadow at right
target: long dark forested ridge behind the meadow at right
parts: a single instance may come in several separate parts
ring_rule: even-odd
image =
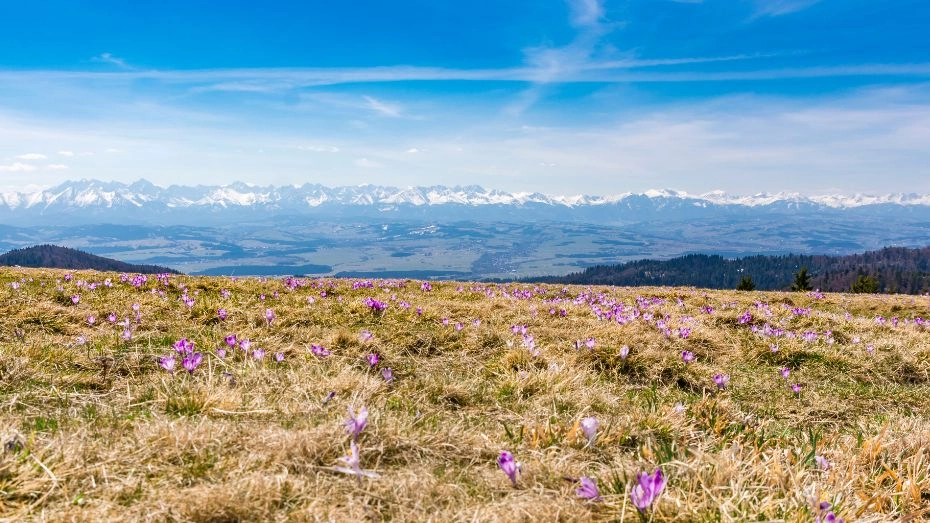
[[[847,256],[789,254],[726,259],[715,255],[691,254],[670,260],[598,265],[566,276],[536,278],[532,281],[733,289],[743,276],[751,276],[758,290],[787,290],[794,274],[801,267],[810,270],[812,287],[823,291],[849,292],[860,275],[875,278],[879,292],[918,294],[930,290],[930,247],[887,247]]]

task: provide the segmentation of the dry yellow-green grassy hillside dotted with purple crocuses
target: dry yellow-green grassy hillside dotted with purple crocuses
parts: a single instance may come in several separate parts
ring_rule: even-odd
[[[7,521],[930,517],[927,297],[27,269],[0,295]]]

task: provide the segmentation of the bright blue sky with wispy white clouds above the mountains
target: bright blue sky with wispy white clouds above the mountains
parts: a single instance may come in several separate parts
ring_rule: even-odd
[[[930,193],[925,0],[0,1],[0,187]]]

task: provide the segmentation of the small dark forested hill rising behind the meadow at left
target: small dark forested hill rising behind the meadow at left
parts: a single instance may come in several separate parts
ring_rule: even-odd
[[[102,256],[96,256],[77,249],[57,245],[36,245],[15,249],[0,255],[0,265],[20,267],[39,267],[45,269],[97,270],[113,272],[134,272],[143,274],[175,273],[178,271],[158,265],[135,265]]]

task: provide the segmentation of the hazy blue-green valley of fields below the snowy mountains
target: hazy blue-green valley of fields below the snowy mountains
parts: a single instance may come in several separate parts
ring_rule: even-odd
[[[689,253],[842,255],[889,245],[924,247],[930,223],[920,216],[896,217],[893,222],[859,215],[803,219],[779,214],[765,220],[644,217],[639,223],[517,217],[510,222],[398,221],[384,216],[227,225],[0,225],[0,251],[51,243],[186,274],[521,279]]]

